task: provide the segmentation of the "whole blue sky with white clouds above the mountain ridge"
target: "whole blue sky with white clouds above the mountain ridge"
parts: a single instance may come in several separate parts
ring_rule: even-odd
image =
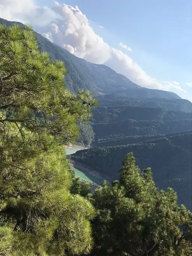
[[[191,0],[0,0],[0,17],[140,86],[192,102]]]

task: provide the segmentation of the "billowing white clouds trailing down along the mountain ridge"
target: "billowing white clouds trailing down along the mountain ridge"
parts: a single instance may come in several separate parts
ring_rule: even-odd
[[[175,81],[159,82],[150,77],[128,55],[110,47],[95,34],[86,15],[77,6],[54,1],[50,9],[35,5],[33,0],[0,0],[0,16],[12,21],[31,22],[35,30],[51,42],[89,62],[105,64],[140,86],[185,91]],[[131,50],[122,43],[120,46]]]

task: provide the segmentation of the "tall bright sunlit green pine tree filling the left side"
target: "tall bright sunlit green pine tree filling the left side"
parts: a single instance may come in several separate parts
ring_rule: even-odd
[[[64,145],[97,104],[70,93],[66,69],[40,53],[29,25],[0,25],[0,255],[72,255],[93,245],[95,211],[72,195]]]

